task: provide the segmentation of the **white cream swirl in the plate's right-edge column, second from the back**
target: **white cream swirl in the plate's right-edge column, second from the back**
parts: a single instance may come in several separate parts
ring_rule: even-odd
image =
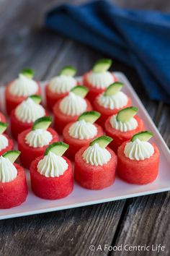
[[[114,95],[110,95],[110,96],[109,95],[105,96],[104,93],[102,93],[97,98],[97,101],[99,105],[103,106],[104,108],[118,109],[127,105],[128,97],[127,95],[125,95],[125,93],[122,93],[122,92],[117,92]]]

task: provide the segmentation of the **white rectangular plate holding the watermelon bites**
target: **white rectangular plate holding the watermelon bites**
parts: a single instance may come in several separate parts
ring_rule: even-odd
[[[147,185],[133,185],[125,183],[117,177],[115,184],[100,191],[84,189],[80,187],[79,184],[75,183],[73,192],[68,197],[61,200],[43,200],[32,193],[30,188],[30,175],[29,171],[27,171],[29,194],[26,202],[15,208],[0,210],[0,219],[28,216],[37,213],[47,213],[55,210],[76,208],[85,205],[94,205],[100,202],[110,202],[170,190],[169,148],[167,148],[166,143],[158,132],[158,129],[156,129],[151,117],[148,115],[146,109],[138,98],[138,95],[135,93],[135,90],[133,90],[132,85],[130,85],[130,82],[128,82],[125,75],[121,72],[115,72],[115,75],[125,84],[123,91],[132,98],[133,106],[137,106],[139,108],[138,114],[145,122],[146,129],[149,129],[154,133],[153,142],[158,145],[161,155],[159,175],[156,181]],[[45,83],[42,82],[41,86],[44,88]],[[4,105],[4,88],[0,88],[0,95],[2,105]]]

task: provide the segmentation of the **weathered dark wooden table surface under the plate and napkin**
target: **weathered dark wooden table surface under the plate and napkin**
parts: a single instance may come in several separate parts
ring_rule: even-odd
[[[107,57],[42,27],[46,10],[61,2],[0,1],[1,83],[12,80],[24,67],[35,69],[37,80],[48,80],[66,64],[79,67],[78,75],[81,75],[91,68],[94,61]],[[145,8],[146,1],[141,2],[138,1],[138,6]],[[151,2],[148,4],[150,9]],[[169,11],[167,2],[164,10]],[[119,4],[123,5],[124,1],[119,1]],[[138,7],[135,0],[128,1],[128,6]],[[155,1],[155,9],[163,9],[162,6],[162,1]],[[112,69],[124,72],[133,84],[164,140],[170,145],[170,107],[147,97],[135,70],[116,60],[113,63]],[[161,244],[166,248],[159,255],[170,255],[169,204],[170,193],[164,192],[0,221],[0,255],[156,255],[154,251],[104,251],[104,244]],[[102,251],[90,251],[91,244],[96,248],[101,244]]]

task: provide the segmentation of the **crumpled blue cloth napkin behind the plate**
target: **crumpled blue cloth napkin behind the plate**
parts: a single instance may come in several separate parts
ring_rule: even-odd
[[[110,1],[63,4],[45,25],[134,67],[149,97],[170,103],[170,15],[122,9]]]

